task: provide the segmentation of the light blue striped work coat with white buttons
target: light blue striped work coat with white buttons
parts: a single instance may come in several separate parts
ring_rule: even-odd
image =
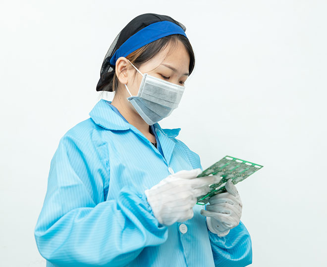
[[[51,161],[44,204],[34,229],[47,267],[236,267],[252,263],[241,222],[225,237],[211,233],[202,206],[186,222],[162,225],[144,190],[170,173],[201,168],[176,139],[180,128],[153,125],[162,153],[101,99],[90,118],[61,137]]]

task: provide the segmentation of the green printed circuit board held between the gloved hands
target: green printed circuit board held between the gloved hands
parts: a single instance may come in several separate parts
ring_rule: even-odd
[[[221,177],[218,183],[210,185],[210,191],[203,196],[197,198],[198,205],[205,205],[209,202],[209,199],[219,193],[226,192],[225,183],[228,179],[232,179],[233,184],[243,181],[262,167],[259,164],[255,164],[249,161],[225,156],[208,169],[204,170],[199,177],[205,177],[210,175],[217,175]]]

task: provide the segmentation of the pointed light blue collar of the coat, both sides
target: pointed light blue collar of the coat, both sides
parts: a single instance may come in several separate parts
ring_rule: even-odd
[[[135,131],[135,127],[126,122],[119,114],[117,114],[110,106],[111,101],[100,99],[89,113],[91,119],[99,126],[107,130],[122,131],[131,129]],[[161,131],[168,137],[176,137],[180,128],[162,129],[159,123],[155,123],[155,130]]]

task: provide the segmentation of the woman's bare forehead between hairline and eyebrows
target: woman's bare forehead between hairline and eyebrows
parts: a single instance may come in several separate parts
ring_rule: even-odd
[[[161,67],[162,64],[170,65],[178,73],[188,73],[190,65],[190,55],[185,46],[180,42],[169,42],[159,53],[149,61],[140,66],[140,69],[153,70]]]

